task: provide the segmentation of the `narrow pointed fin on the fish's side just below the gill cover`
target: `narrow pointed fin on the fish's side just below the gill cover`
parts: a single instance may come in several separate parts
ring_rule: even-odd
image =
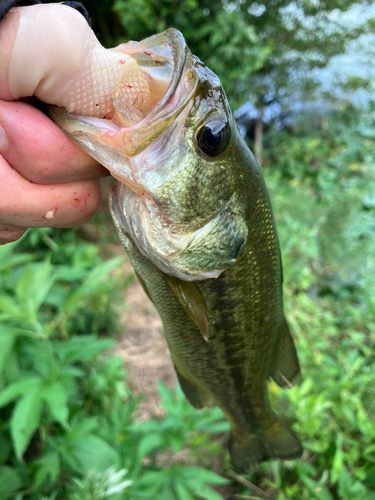
[[[188,316],[199,328],[204,340],[208,341],[207,305],[198,286],[191,281],[182,281],[174,276],[165,275],[173,293]]]

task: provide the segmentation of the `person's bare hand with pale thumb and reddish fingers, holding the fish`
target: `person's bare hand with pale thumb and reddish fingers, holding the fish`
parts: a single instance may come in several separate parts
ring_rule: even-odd
[[[63,5],[12,9],[0,23],[0,244],[29,227],[77,226],[100,205],[99,178],[108,172],[20,99],[67,108],[82,68],[88,78],[90,57],[102,60],[103,51],[83,16]],[[100,91],[88,99],[98,100]],[[108,108],[101,102],[98,116]],[[78,114],[87,109],[82,102],[69,106]]]

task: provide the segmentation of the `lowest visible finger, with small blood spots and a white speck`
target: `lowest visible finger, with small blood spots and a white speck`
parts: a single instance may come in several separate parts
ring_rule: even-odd
[[[5,226],[74,227],[86,222],[101,202],[99,181],[32,184],[0,157],[0,220]]]

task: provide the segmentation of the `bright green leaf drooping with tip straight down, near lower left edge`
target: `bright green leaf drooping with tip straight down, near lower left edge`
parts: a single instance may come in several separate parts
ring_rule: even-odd
[[[42,411],[39,388],[33,389],[18,401],[10,421],[10,430],[17,457],[22,456],[38,428]]]

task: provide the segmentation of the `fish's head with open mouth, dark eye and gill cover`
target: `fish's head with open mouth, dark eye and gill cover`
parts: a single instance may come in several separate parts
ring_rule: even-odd
[[[50,114],[118,180],[112,215],[143,255],[185,281],[218,277],[248,235],[240,134],[221,82],[176,30],[117,50],[142,68],[148,102],[116,97],[109,120]]]

